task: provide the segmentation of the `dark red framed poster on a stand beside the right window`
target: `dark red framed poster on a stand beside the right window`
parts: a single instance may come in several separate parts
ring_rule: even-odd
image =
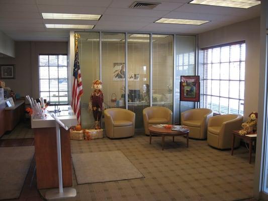
[[[199,76],[181,76],[180,100],[187,102],[200,101],[200,80]]]

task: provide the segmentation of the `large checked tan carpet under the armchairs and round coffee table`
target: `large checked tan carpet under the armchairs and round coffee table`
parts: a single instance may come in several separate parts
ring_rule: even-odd
[[[108,138],[71,141],[72,153],[122,151],[145,176],[141,179],[77,185],[73,172],[75,198],[68,200],[239,200],[252,197],[254,163],[248,163],[244,147],[221,151],[206,141],[184,137],[165,139],[135,134],[128,139]],[[253,158],[254,161],[254,154]],[[94,165],[94,164],[88,164]],[[124,167],[122,167],[124,168]],[[120,171],[120,169],[118,169]],[[44,196],[46,190],[41,190]]]

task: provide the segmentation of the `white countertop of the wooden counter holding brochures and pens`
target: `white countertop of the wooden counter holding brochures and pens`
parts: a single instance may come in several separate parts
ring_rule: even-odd
[[[77,119],[74,115],[72,109],[70,106],[59,106],[58,107],[61,112],[60,113],[54,113],[62,121],[63,124],[65,124],[67,127],[76,126],[77,125]],[[33,115],[31,116],[31,123],[32,128],[51,128],[55,127],[56,123],[55,120],[51,117],[48,111],[53,111],[54,106],[49,106],[45,110],[46,119],[34,119]],[[52,113],[52,112],[51,112]]]

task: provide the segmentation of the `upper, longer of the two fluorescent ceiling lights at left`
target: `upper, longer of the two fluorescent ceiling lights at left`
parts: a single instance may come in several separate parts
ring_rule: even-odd
[[[102,15],[68,14],[68,13],[42,13],[43,19],[57,20],[100,20]]]

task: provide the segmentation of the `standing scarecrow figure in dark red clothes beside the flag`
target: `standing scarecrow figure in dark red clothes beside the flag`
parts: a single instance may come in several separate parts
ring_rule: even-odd
[[[93,81],[92,88],[94,88],[91,94],[90,103],[88,105],[88,110],[92,110],[95,119],[95,129],[101,129],[101,118],[103,111],[103,92],[102,92],[102,81],[96,79]]]

